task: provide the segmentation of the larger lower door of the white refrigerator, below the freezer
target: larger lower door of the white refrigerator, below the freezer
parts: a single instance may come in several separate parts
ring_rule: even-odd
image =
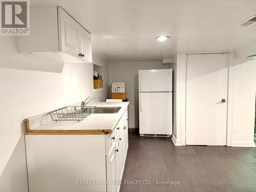
[[[140,134],[173,134],[173,93],[139,93]]]

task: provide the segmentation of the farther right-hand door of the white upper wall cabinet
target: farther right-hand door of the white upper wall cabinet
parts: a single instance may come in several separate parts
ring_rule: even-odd
[[[87,62],[92,62],[92,45],[91,45],[91,34],[85,29],[80,27],[80,52],[82,59]]]

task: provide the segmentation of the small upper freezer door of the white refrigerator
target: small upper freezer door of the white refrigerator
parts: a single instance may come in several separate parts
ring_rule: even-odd
[[[172,92],[173,70],[139,70],[139,92]]]

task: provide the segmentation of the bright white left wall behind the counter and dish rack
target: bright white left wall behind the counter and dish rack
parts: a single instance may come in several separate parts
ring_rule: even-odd
[[[93,65],[19,54],[12,36],[0,42],[0,191],[28,192],[23,120],[93,96]]]

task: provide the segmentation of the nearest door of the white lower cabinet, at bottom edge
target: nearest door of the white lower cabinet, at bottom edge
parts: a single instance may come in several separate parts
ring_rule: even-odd
[[[106,156],[106,172],[107,172],[107,180],[108,184],[107,190],[110,192],[116,192],[116,148],[113,147],[110,155]]]

